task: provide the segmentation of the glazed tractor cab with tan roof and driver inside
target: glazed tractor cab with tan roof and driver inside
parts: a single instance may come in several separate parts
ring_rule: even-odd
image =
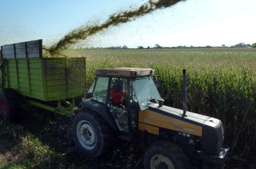
[[[138,129],[139,109],[161,99],[153,74],[154,70],[143,68],[97,69],[87,93],[92,101],[108,107],[118,130],[128,133]]]

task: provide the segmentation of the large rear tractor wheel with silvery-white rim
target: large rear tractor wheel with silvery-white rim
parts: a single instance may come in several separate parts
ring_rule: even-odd
[[[76,146],[89,158],[98,158],[112,147],[112,129],[92,110],[84,109],[75,115],[72,132]]]

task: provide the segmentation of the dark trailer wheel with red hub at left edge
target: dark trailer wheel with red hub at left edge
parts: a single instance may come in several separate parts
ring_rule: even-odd
[[[20,115],[19,94],[12,88],[0,91],[1,115],[5,120],[14,121]]]

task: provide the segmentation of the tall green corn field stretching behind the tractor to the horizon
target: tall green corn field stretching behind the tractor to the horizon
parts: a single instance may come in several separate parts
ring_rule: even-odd
[[[256,149],[255,51],[79,49],[69,55],[87,57],[87,87],[97,68],[152,68],[158,75],[164,104],[180,109],[182,69],[186,69],[188,111],[222,121],[231,156],[255,158],[255,151],[251,151]]]

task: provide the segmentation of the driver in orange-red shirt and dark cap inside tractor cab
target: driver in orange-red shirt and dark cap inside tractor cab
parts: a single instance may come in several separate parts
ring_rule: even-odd
[[[111,92],[112,105],[124,109],[124,82],[122,80],[117,80],[114,87],[114,90]]]

